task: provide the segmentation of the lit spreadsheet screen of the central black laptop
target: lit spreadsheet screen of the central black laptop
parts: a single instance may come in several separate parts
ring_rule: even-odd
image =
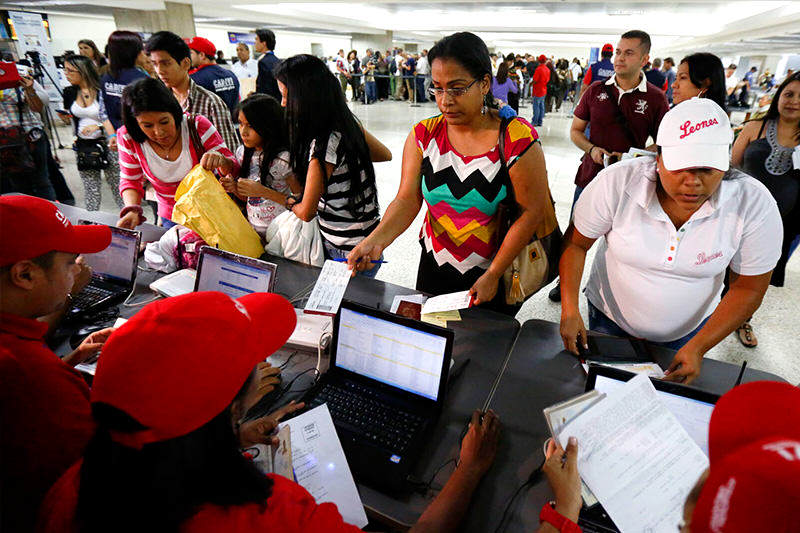
[[[437,399],[445,337],[346,308],[340,313],[337,367]]]

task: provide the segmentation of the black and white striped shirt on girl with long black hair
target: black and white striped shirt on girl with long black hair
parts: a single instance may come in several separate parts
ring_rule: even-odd
[[[311,142],[309,160],[318,159],[334,167],[317,206],[322,237],[336,248],[352,250],[380,221],[378,191],[374,182],[367,184],[367,174],[362,169],[361,183],[367,185],[363,198],[351,210],[350,168],[345,160],[344,147],[340,144],[341,139],[342,134],[338,131],[332,132],[324,145],[318,145],[315,139]]]

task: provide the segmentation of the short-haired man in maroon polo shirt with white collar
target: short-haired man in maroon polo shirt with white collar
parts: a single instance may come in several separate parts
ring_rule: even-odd
[[[573,144],[584,152],[575,176],[573,206],[606,163],[616,162],[631,148],[655,151],[655,145],[648,147],[647,140],[655,140],[669,104],[664,92],[642,72],[649,60],[647,33],[631,30],[622,34],[614,53],[614,75],[593,82],[581,96],[569,132]],[[561,301],[560,283],[550,290],[549,297]]]

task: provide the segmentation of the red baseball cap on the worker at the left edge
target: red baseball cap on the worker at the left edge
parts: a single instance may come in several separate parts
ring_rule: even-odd
[[[52,251],[93,254],[109,244],[108,226],[73,226],[55,204],[42,198],[0,197],[0,266]]]

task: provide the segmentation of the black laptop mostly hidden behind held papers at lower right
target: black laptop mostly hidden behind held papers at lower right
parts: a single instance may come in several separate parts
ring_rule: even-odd
[[[618,368],[590,364],[586,390],[597,390],[607,394],[624,385],[635,375]],[[708,425],[719,395],[680,383],[655,378],[650,378],[650,381],[653,382],[658,397],[666,408],[675,415],[703,453],[708,455]],[[578,525],[585,533],[619,531],[600,504],[581,509]]]

